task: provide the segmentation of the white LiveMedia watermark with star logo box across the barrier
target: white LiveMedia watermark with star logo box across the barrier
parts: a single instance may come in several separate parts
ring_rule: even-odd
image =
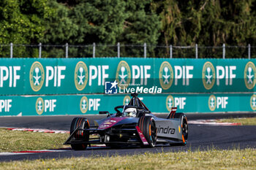
[[[105,82],[105,94],[117,93],[162,93],[162,88],[152,86],[150,88],[141,85],[118,85],[116,80],[114,82]]]

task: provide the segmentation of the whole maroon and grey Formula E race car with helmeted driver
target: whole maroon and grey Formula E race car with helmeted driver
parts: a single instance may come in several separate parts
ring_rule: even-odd
[[[137,93],[132,93],[129,104],[115,107],[115,114],[99,112],[107,117],[94,120],[94,126],[90,126],[86,117],[75,117],[64,144],[71,144],[73,150],[85,150],[91,144],[105,144],[107,147],[155,147],[160,143],[185,145],[187,117],[184,113],[176,113],[176,109],[173,107],[166,118],[159,118],[140,101]],[[91,136],[93,134],[96,137]]]

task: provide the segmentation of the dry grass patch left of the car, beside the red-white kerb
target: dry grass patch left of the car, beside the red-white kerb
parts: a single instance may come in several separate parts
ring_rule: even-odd
[[[67,145],[63,145],[63,143],[68,138],[69,134],[9,131],[7,129],[0,128],[0,136],[0,152],[13,152],[67,147]]]

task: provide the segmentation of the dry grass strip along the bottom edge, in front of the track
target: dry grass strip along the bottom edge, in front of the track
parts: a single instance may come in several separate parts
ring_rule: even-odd
[[[0,169],[256,169],[256,150],[162,152],[0,163]]]

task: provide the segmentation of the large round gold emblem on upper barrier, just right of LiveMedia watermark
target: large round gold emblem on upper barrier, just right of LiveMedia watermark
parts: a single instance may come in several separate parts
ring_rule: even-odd
[[[164,90],[173,84],[173,68],[167,61],[162,62],[159,69],[159,82]]]

